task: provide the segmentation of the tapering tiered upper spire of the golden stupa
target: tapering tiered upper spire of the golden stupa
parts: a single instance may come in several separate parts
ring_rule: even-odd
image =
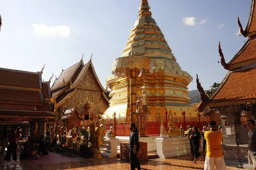
[[[149,57],[150,59],[170,57],[176,61],[162,31],[151,17],[147,0],[141,1],[139,18],[123,50],[122,57],[127,56]]]

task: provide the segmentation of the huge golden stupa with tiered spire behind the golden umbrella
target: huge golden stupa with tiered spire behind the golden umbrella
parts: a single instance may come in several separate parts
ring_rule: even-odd
[[[147,0],[141,0],[139,17],[131,29],[123,54],[118,59],[120,62],[129,63],[135,57],[150,59],[153,62],[152,72],[143,74],[137,69],[141,66],[137,59],[134,61],[134,67],[137,69],[136,95],[142,94],[144,90],[148,114],[163,115],[166,110],[172,109],[174,115],[181,115],[185,111],[186,116],[197,116],[187,96],[187,86],[192,77],[177,63],[161,29],[151,17]],[[105,118],[112,117],[114,112],[117,117],[130,116],[129,76],[123,72],[125,69],[116,68],[115,60],[112,62],[113,74],[106,81],[106,85],[111,89],[111,99],[110,107],[104,113]],[[148,67],[148,62],[144,62],[142,67],[144,66]]]

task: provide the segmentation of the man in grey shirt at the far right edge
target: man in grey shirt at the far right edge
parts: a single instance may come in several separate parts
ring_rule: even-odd
[[[256,128],[254,120],[247,120],[247,128],[250,130],[248,132],[248,161],[249,164],[253,164],[254,170],[256,170]]]

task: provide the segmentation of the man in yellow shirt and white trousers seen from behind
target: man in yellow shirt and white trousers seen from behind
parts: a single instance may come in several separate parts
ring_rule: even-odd
[[[209,131],[204,133],[204,139],[207,144],[207,153],[205,156],[204,170],[227,170],[221,150],[221,141],[223,134],[217,131],[216,122],[209,122]]]

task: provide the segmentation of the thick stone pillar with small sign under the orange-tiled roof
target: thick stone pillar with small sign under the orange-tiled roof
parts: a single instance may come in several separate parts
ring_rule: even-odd
[[[222,152],[227,165],[248,167],[248,129],[241,125],[243,105],[224,106],[219,109],[223,133]]]

